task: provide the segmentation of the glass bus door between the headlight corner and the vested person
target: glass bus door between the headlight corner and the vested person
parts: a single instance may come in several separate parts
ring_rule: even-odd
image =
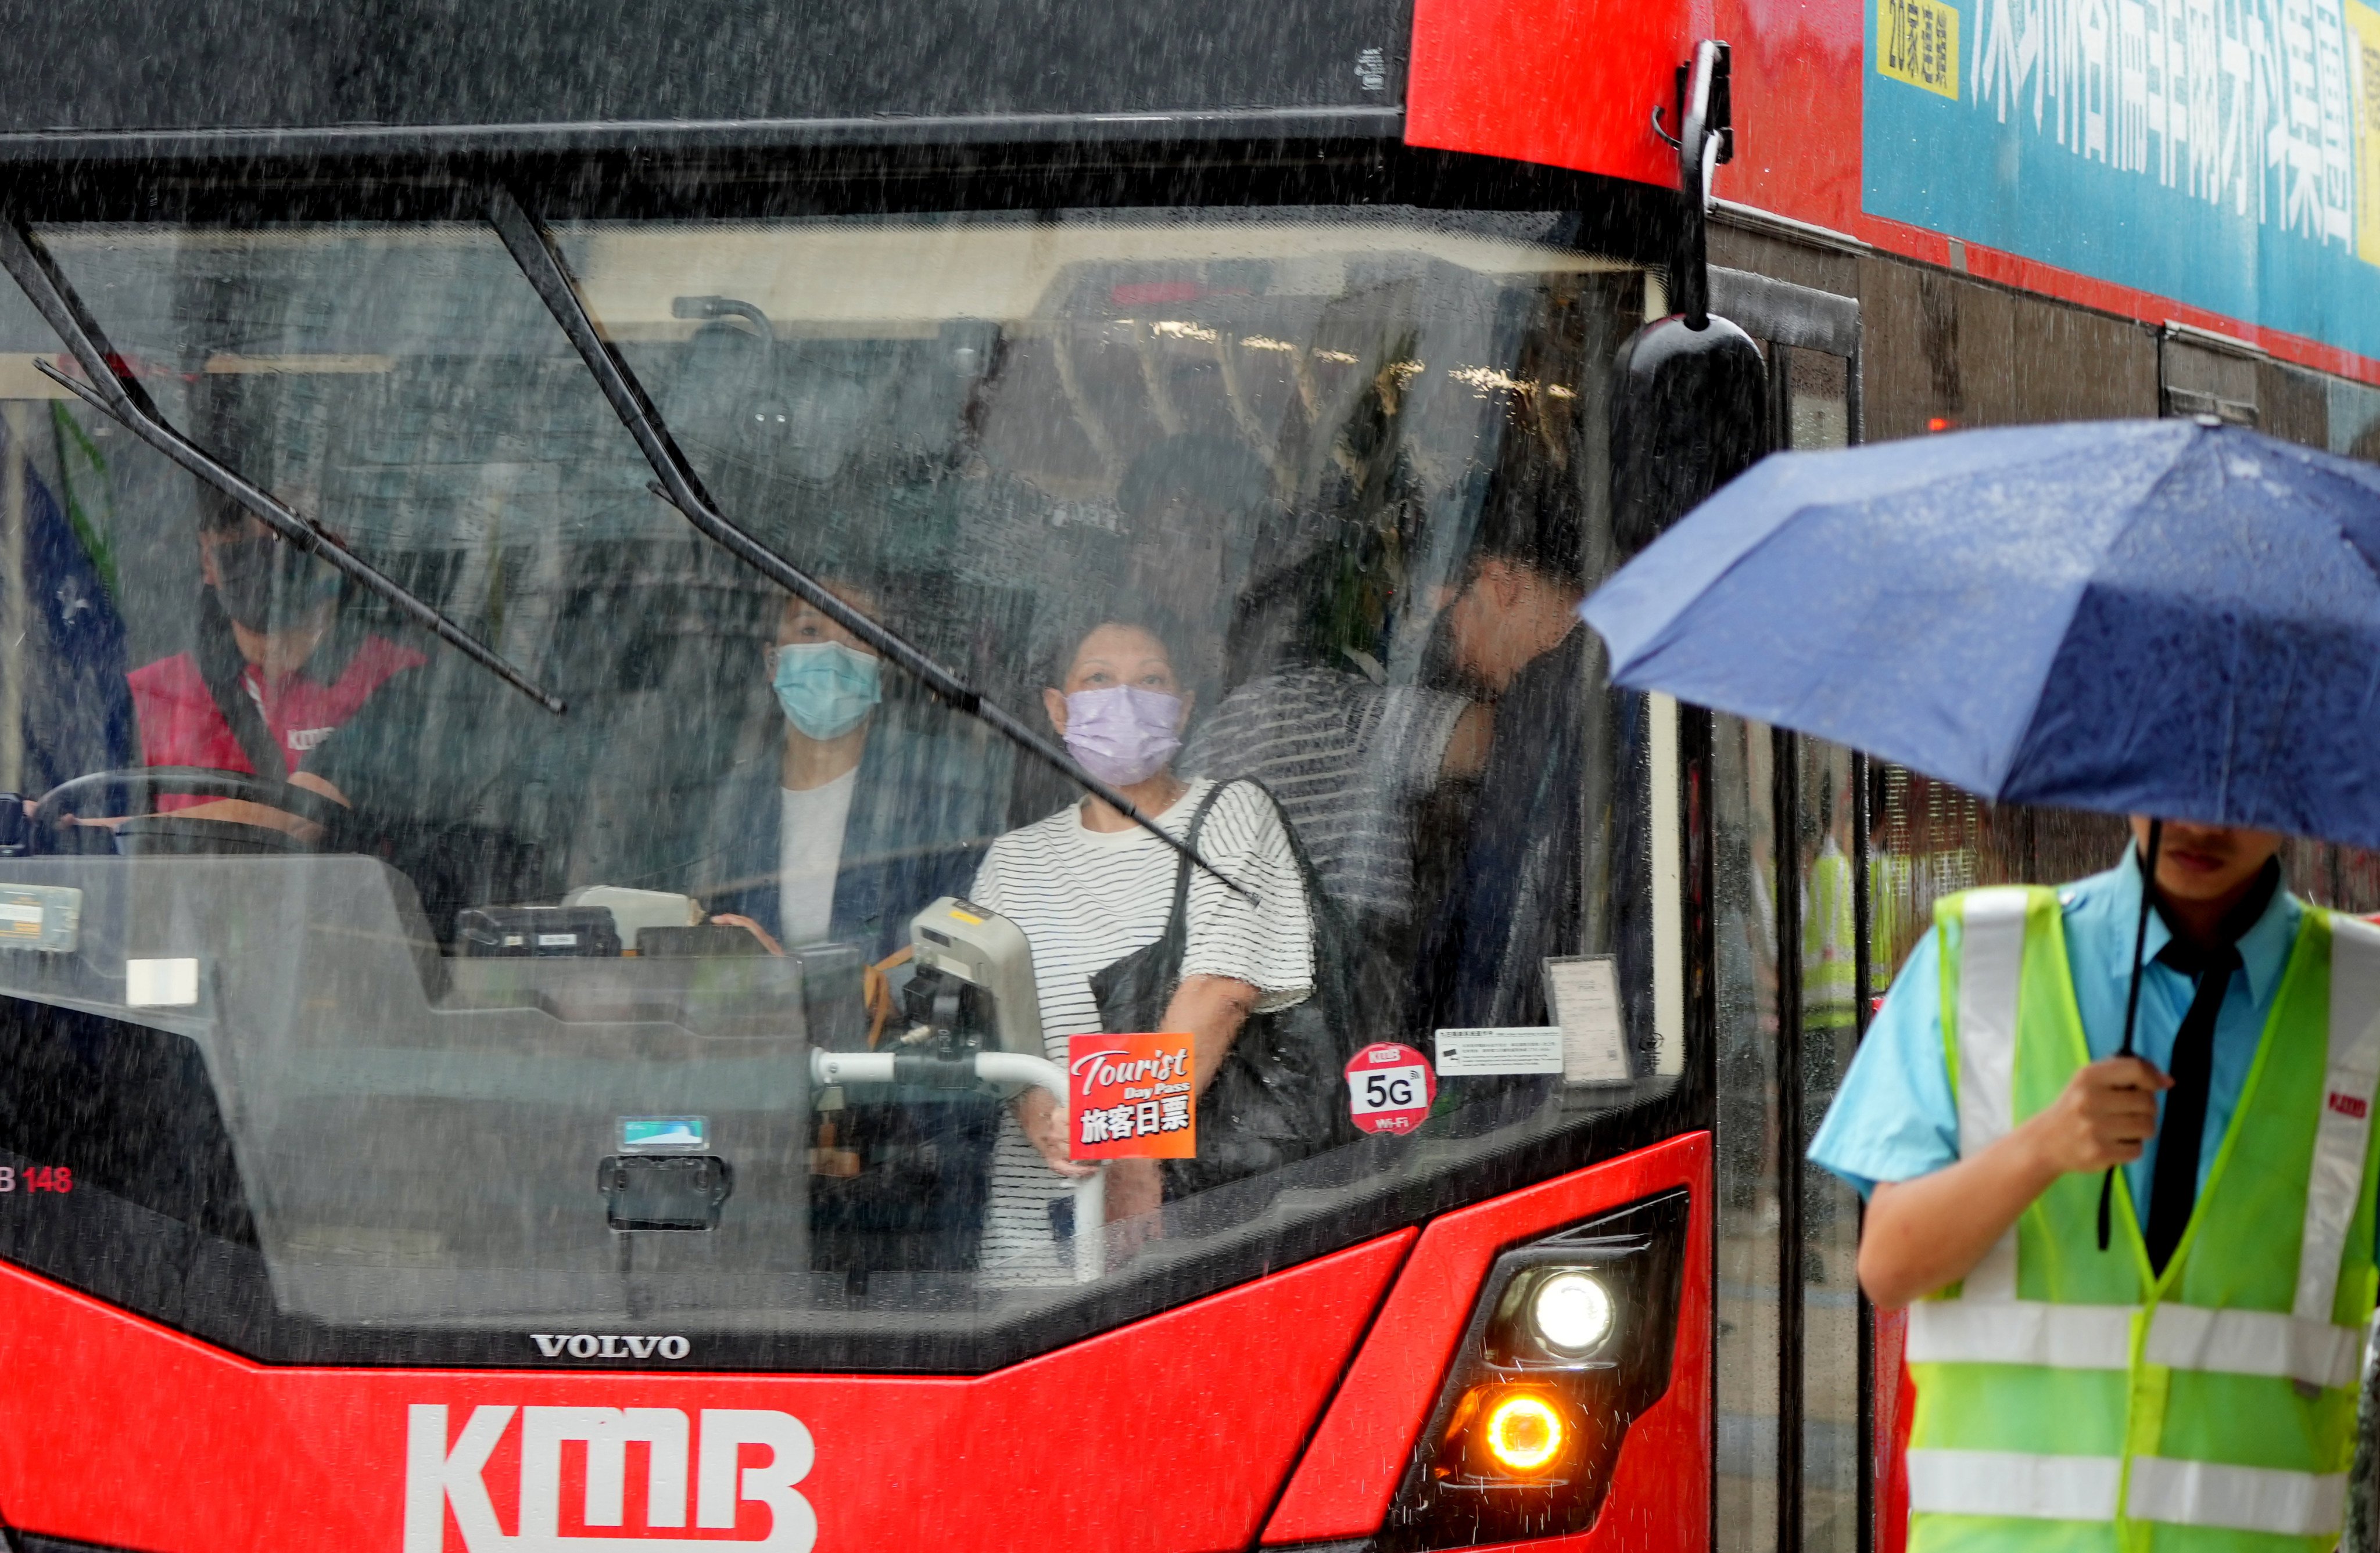
[[[1859,440],[1859,302],[1740,269],[1711,304],[1768,357],[1771,440]],[[1802,1163],[1842,1080],[1890,935],[1864,861],[1864,761],[1714,723],[1718,854],[1716,1546],[1864,1553],[1873,1524],[1859,1201]],[[1897,963],[1897,961],[1892,961]]]

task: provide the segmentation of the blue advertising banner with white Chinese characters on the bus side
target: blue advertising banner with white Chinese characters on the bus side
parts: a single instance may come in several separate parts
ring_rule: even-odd
[[[2380,12],[1866,5],[1868,214],[2380,357]]]

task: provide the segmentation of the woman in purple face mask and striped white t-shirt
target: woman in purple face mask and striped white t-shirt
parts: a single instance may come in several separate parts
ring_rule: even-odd
[[[1104,621],[1073,642],[1052,678],[1042,706],[1073,759],[1164,830],[1188,835],[1214,782],[1173,775],[1195,697],[1180,685],[1164,637]],[[1204,870],[1190,880],[1183,977],[1157,1027],[1195,1037],[1190,1077],[1204,1092],[1250,1013],[1311,994],[1314,925],[1288,832],[1254,785],[1216,797],[1200,851],[1257,897],[1235,894]],[[1164,935],[1173,880],[1176,854],[1092,797],[992,842],[969,899],[1014,920],[1033,947],[1052,1061],[1064,1061],[1069,1035],[1100,1030],[1090,977]],[[1107,1170],[1109,1222],[1159,1206],[1157,1161],[1114,1161]],[[990,1280],[1069,1277],[1050,1203],[1066,1201],[1069,1180],[1085,1172],[1069,1158],[1057,1104],[1038,1089],[1019,1096],[992,1151],[981,1263]]]

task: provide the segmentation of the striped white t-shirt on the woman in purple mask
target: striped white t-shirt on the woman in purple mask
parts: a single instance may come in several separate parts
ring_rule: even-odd
[[[1211,787],[1190,782],[1157,823],[1188,835]],[[1200,854],[1261,904],[1192,868],[1183,975],[1242,980],[1257,987],[1259,1013],[1304,1001],[1314,992],[1314,923],[1280,816],[1264,792],[1250,782],[1226,790],[1200,830]],[[969,899],[1016,923],[1033,947],[1050,1061],[1064,1065],[1069,1035],[1100,1030],[1090,977],[1164,935],[1178,856],[1138,825],[1085,830],[1076,804],[992,842]],[[1071,1277],[1050,1234],[1050,1201],[1069,1194],[1071,1182],[1026,1142],[1016,1115],[1002,1113],[983,1220],[985,1282]]]

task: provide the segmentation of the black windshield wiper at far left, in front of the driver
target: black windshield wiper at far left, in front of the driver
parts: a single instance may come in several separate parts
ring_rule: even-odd
[[[33,228],[26,226],[14,212],[10,212],[7,219],[0,219],[0,269],[7,269],[7,273],[14,276],[26,300],[33,302],[40,316],[50,323],[50,331],[67,345],[67,354],[71,354],[83,369],[88,383],[36,359],[33,366],[38,366],[48,378],[62,383],[71,395],[114,419],[136,438],[252,511],[286,542],[321,557],[340,576],[352,578],[367,592],[395,604],[405,618],[421,625],[488,673],[497,675],[538,706],[547,711],[566,711],[566,702],[562,697],[514,668],[505,654],[495,652],[469,630],[438,614],[436,604],[414,595],[405,587],[405,583],[397,583],[393,576],[347,549],[347,542],[321,523],[298,516],[269,490],[252,485],[236,469],[174,430],[164,414],[159,414],[157,402],[150,400],[145,388],[140,388],[140,381],[121,366],[124,357],[107,345],[107,335],[100,333],[98,321],[83,307],[83,300],[74,295],[67,278],[57,273],[57,266],[40,247]]]

